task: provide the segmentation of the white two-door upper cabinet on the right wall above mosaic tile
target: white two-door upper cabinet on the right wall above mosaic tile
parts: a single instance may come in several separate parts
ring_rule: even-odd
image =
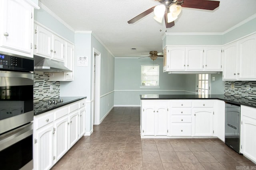
[[[256,35],[224,47],[223,80],[256,80]]]

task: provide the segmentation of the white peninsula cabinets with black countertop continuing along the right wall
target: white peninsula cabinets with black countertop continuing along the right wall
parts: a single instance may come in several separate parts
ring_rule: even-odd
[[[225,95],[140,95],[142,138],[218,137],[225,141],[225,102],[240,107],[240,152],[256,162],[256,101]]]

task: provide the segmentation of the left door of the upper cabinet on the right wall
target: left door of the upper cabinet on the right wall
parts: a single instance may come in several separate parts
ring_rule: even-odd
[[[236,80],[237,42],[224,47],[223,80]]]

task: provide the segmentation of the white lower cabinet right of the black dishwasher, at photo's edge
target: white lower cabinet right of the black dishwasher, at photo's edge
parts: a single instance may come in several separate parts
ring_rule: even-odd
[[[240,152],[256,162],[256,108],[241,106]]]

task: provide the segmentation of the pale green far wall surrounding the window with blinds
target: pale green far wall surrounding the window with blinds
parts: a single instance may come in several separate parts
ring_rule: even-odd
[[[160,88],[140,88],[141,64],[153,64],[148,58],[115,58],[114,105],[140,105],[140,94],[184,94],[184,74],[163,72],[163,59],[158,58]]]

